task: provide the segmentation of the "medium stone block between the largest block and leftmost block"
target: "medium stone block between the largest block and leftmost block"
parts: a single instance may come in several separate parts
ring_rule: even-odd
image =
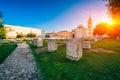
[[[57,50],[56,39],[48,39],[48,52]]]

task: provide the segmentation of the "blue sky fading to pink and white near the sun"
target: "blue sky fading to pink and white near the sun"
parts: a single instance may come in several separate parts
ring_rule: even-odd
[[[44,29],[47,32],[93,27],[108,19],[103,0],[0,0],[4,24]]]

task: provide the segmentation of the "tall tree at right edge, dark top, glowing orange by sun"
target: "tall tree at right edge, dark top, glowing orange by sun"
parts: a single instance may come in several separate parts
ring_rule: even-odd
[[[109,30],[108,35],[111,37],[120,36],[120,0],[106,0],[109,15],[114,21],[113,27]]]

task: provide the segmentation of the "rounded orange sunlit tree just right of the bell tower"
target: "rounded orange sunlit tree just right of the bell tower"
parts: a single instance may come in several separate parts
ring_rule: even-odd
[[[107,23],[99,23],[96,25],[93,31],[93,35],[101,36],[107,32]]]

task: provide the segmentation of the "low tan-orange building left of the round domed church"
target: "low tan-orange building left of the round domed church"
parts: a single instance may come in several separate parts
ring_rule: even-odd
[[[56,35],[59,38],[72,38],[72,33],[70,31],[67,31],[67,30],[57,32]]]

